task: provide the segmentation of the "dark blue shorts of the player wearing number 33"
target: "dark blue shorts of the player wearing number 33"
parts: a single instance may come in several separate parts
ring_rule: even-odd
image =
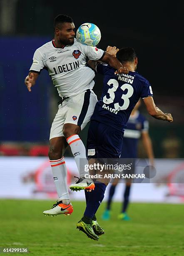
[[[92,120],[87,136],[88,158],[119,158],[124,133]]]

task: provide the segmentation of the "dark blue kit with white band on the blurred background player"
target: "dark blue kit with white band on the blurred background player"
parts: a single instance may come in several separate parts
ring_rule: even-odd
[[[143,115],[136,111],[130,115],[127,128],[124,129],[121,158],[137,158],[137,146],[141,133],[148,131],[149,123]]]

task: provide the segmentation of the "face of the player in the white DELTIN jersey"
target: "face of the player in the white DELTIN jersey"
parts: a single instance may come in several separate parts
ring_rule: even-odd
[[[71,45],[74,43],[75,25],[74,23],[65,22],[59,31],[59,40],[61,44]]]

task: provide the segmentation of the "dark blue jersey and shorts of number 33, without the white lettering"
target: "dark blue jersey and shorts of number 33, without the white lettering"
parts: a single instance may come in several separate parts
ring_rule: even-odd
[[[123,77],[131,76],[133,82],[124,82],[118,79],[119,75],[114,74],[116,70],[109,67],[107,64],[98,64],[97,72],[104,75],[103,79],[103,89],[102,96],[97,102],[94,113],[91,117],[91,123],[87,136],[87,152],[88,158],[119,158],[122,151],[124,128],[127,127],[127,121],[129,116],[138,102],[139,98],[153,96],[152,89],[147,79],[142,77],[137,72],[129,72],[127,75],[121,75]],[[111,81],[109,82],[109,80]],[[118,86],[117,86],[118,82]],[[131,97],[125,96],[128,107],[125,110],[119,110],[117,113],[112,113],[109,110],[103,108],[102,106],[109,107],[109,109],[114,109],[114,104],[119,103],[120,106],[124,105],[122,95],[126,95],[129,89],[122,90],[122,85],[126,87],[126,84],[133,87],[133,93]],[[113,102],[107,104],[103,102],[104,96],[110,98],[108,90],[114,87],[115,90],[111,90]],[[130,88],[130,87],[129,87]],[[130,88],[132,91],[132,88]],[[151,90],[151,91],[150,91]],[[111,100],[112,101],[112,100]],[[89,154],[89,150],[94,150],[94,153]],[[92,151],[91,151],[92,152]]]

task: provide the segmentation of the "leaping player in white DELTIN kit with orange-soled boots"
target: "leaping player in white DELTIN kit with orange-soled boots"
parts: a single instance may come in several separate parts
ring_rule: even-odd
[[[80,180],[70,186],[72,190],[94,189],[91,179],[85,179],[85,146],[79,133],[90,121],[97,97],[92,91],[94,71],[86,67],[86,58],[102,60],[119,73],[128,73],[128,69],[113,56],[97,47],[85,46],[74,38],[75,25],[67,15],[58,15],[54,22],[55,37],[35,51],[30,72],[25,78],[27,90],[31,87],[42,69],[47,69],[54,86],[61,97],[58,112],[50,131],[49,159],[55,181],[58,200],[50,210],[43,213],[55,216],[70,215],[73,207],[67,187],[67,168],[63,154],[68,144],[75,157]],[[81,161],[80,161],[81,160]]]

